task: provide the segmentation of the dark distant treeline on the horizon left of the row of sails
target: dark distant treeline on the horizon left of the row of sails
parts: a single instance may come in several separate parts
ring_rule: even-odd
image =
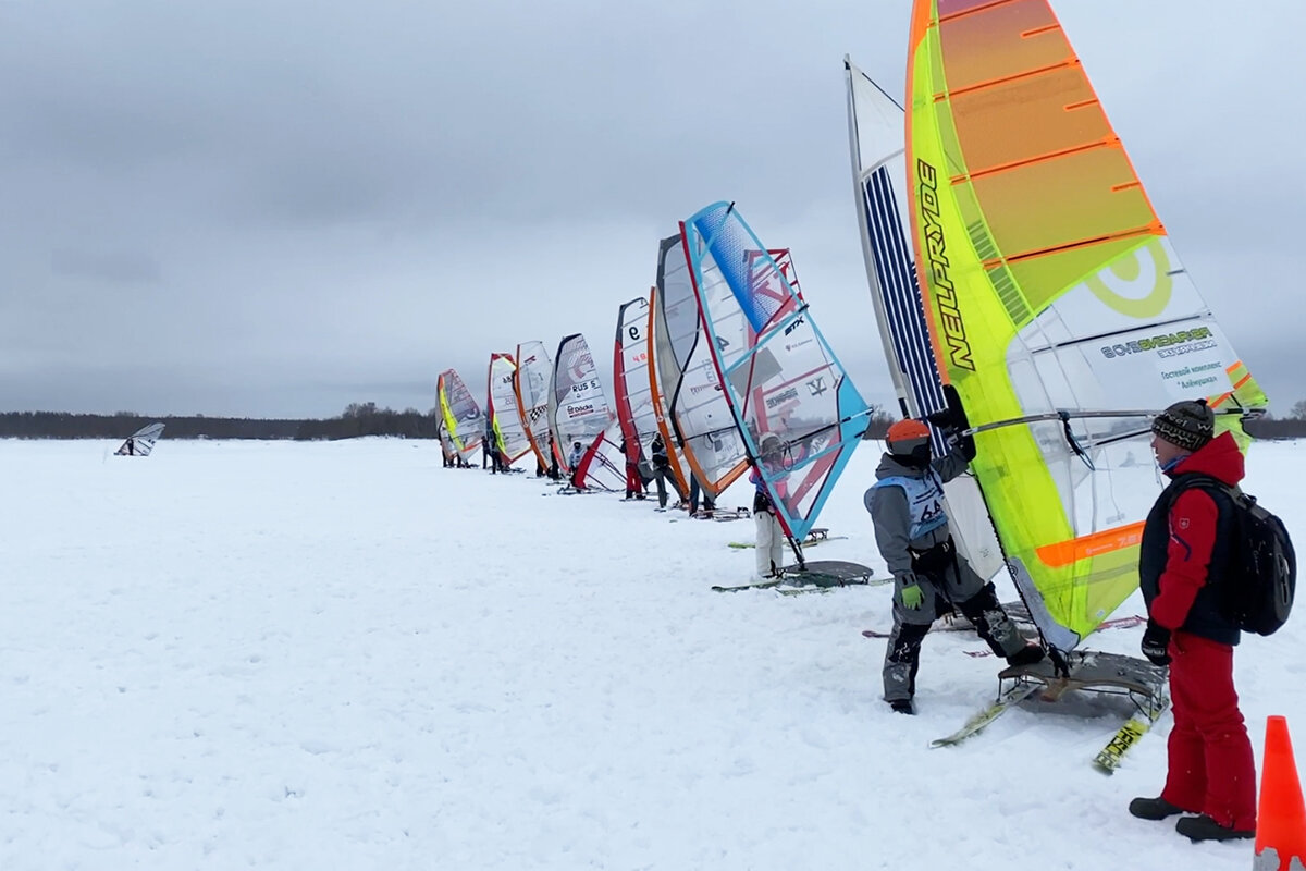
[[[67,411],[0,413],[0,439],[125,439],[146,423],[167,424],[165,439],[354,439],[402,436],[434,439],[435,411],[379,409],[375,402],[351,402],[343,414],[326,419],[264,419],[153,417],[135,411],[72,414]]]

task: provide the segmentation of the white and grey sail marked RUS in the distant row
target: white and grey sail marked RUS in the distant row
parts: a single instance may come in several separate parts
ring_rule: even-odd
[[[559,342],[552,384],[550,417],[564,454],[559,466],[567,470],[576,487],[623,490],[626,458],[620,452],[620,426],[607,404],[594,356],[580,333]],[[572,452],[577,444],[582,453],[573,466]]]

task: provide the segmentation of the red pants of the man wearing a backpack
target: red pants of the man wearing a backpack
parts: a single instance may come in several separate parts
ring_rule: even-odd
[[[1256,764],[1233,688],[1233,646],[1187,632],[1170,640],[1170,770],[1161,798],[1220,825],[1256,828]]]

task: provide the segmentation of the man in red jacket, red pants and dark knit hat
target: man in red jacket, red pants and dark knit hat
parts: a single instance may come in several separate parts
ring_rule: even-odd
[[[1256,832],[1256,770],[1233,686],[1237,624],[1220,609],[1224,585],[1239,582],[1233,501],[1192,486],[1194,475],[1235,486],[1242,452],[1215,436],[1205,400],[1175,402],[1152,423],[1152,449],[1171,483],[1148,515],[1139,585],[1148,607],[1143,654],[1170,666],[1169,770],[1158,798],[1136,798],[1130,814],[1185,816],[1175,831],[1192,841],[1250,838]]]

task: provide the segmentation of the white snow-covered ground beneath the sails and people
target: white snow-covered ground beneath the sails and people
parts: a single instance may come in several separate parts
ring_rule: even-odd
[[[112,447],[0,441],[7,871],[1250,867],[1247,842],[1127,815],[1169,717],[1114,777],[1089,765],[1110,705],[929,750],[998,662],[932,635],[921,713],[893,714],[861,635],[889,626],[888,588],[709,592],[748,580],[727,547],[748,521],[545,495],[443,469],[435,443]],[[814,559],[883,572],[878,457]],[[1301,445],[1254,449],[1247,488],[1306,541],[1303,478]],[[1306,761],[1303,641],[1298,615],[1238,650],[1258,760],[1286,714]]]

